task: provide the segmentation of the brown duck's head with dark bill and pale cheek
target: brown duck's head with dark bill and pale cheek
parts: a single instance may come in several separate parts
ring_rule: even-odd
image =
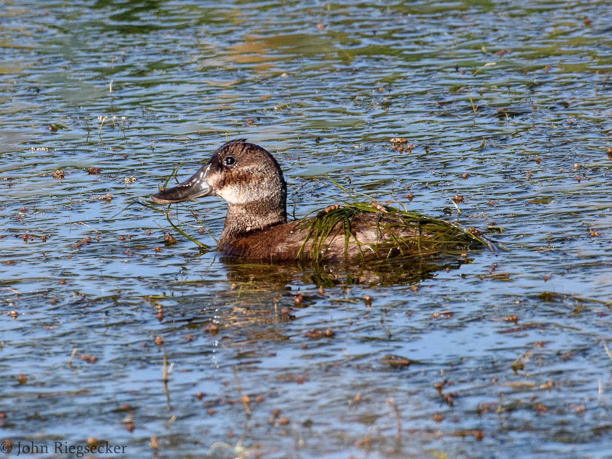
[[[248,220],[259,220],[247,225],[256,229],[286,222],[286,194],[285,179],[274,157],[260,146],[236,139],[223,144],[182,184],[160,190],[151,198],[170,204],[218,196],[230,204],[228,218],[246,214]]]

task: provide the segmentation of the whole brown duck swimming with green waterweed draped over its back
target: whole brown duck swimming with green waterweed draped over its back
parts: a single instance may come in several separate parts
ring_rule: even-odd
[[[332,204],[288,221],[287,185],[274,156],[245,139],[226,142],[193,176],[151,195],[172,204],[203,196],[228,203],[222,258],[264,263],[361,263],[424,258],[488,245],[477,231],[380,203]],[[457,253],[461,253],[457,252]]]

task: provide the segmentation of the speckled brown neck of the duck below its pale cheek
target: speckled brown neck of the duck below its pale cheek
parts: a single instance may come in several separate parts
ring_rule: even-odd
[[[286,223],[285,202],[282,205],[279,204],[278,202],[230,204],[218,245],[231,242],[252,231],[264,230],[278,223]]]

